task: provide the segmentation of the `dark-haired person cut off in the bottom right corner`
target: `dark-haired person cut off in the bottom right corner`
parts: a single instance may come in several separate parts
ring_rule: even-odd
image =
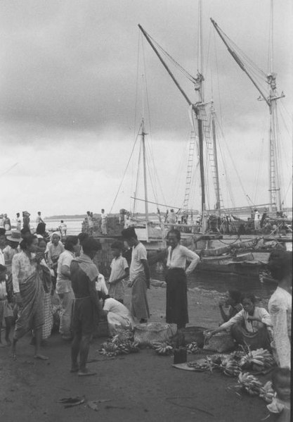
[[[272,375],[275,391],[273,402],[267,408],[271,412],[269,421],[290,422],[291,371],[289,368],[276,368]]]

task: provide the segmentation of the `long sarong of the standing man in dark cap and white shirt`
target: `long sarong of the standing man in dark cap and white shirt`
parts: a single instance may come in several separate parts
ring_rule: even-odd
[[[131,288],[131,314],[138,319],[150,318],[145,273],[138,273]]]

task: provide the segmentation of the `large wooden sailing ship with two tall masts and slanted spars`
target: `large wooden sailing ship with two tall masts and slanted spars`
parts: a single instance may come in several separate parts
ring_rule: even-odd
[[[242,275],[258,275],[260,268],[266,264],[268,259],[269,251],[275,247],[280,247],[278,243],[279,240],[284,243],[284,241],[292,242],[292,235],[287,236],[285,238],[281,238],[278,230],[280,228],[285,229],[285,232],[291,232],[292,228],[289,226],[289,221],[286,221],[283,218],[283,204],[281,201],[281,188],[280,188],[280,175],[278,170],[278,135],[277,135],[277,128],[276,128],[276,119],[277,119],[277,100],[284,97],[284,94],[280,94],[278,96],[276,92],[276,85],[275,85],[275,73],[273,70],[268,74],[267,82],[270,86],[270,92],[268,97],[264,94],[261,89],[259,89],[258,85],[254,81],[254,78],[249,75],[249,72],[246,71],[245,66],[243,65],[240,58],[237,56],[235,51],[231,48],[231,46],[226,43],[228,46],[228,51],[233,56],[237,64],[245,70],[249,78],[252,80],[254,85],[259,89],[261,93],[261,97],[266,104],[269,106],[269,111],[271,115],[271,128],[270,128],[270,200],[268,204],[262,204],[262,206],[268,206],[268,213],[271,213],[270,216],[272,218],[272,213],[275,213],[275,221],[273,223],[277,223],[277,227],[273,230],[272,233],[268,236],[268,238],[264,238],[262,235],[259,235],[257,232],[254,231],[254,235],[250,234],[249,236],[231,236],[224,235],[211,235],[210,233],[207,234],[207,221],[211,213],[215,214],[216,217],[221,215],[226,215],[227,211],[231,214],[235,213],[236,209],[223,209],[221,208],[221,190],[219,186],[219,168],[217,163],[217,154],[216,154],[216,134],[215,134],[215,111],[214,111],[214,102],[213,101],[204,101],[204,89],[203,89],[203,82],[204,82],[204,75],[202,73],[202,25],[201,25],[201,13],[202,13],[202,4],[201,0],[199,1],[199,13],[200,13],[200,25],[199,25],[199,66],[196,77],[190,76],[190,80],[192,80],[195,92],[197,92],[197,101],[193,102],[190,100],[188,95],[185,93],[181,85],[179,84],[178,80],[172,73],[171,69],[167,65],[166,61],[160,54],[160,51],[163,51],[167,57],[171,57],[167,54],[162,47],[159,46],[157,42],[155,42],[152,37],[143,29],[141,25],[138,25],[141,32],[143,33],[145,39],[147,39],[148,44],[152,47],[153,51],[161,61],[164,68],[169,73],[171,79],[174,81],[176,87],[179,89],[181,94],[183,95],[185,101],[187,101],[188,106],[190,108],[190,120],[192,121],[193,125],[193,134],[195,134],[195,139],[198,146],[198,155],[199,155],[199,166],[200,166],[200,186],[201,186],[201,230],[198,235],[190,235],[185,236],[183,242],[189,247],[193,247],[198,253],[201,254],[202,260],[201,263],[197,266],[198,270],[201,271],[216,271],[216,272],[224,272],[224,273],[235,273],[235,274],[242,274]],[[225,39],[223,36],[223,32],[219,30],[218,25],[214,23],[217,32],[221,36],[221,39]],[[272,37],[273,38],[273,37]],[[225,40],[226,42],[226,40]],[[160,50],[160,51],[159,51]],[[178,63],[176,63],[178,65]],[[208,104],[211,104],[211,124],[207,124],[207,113],[206,107]],[[208,128],[211,128],[211,135],[208,133]],[[190,149],[194,149],[194,142],[190,142]],[[206,154],[212,157],[211,168],[213,170],[213,181],[214,181],[214,188],[216,194],[216,206],[214,210],[207,210],[206,209],[206,192],[205,192],[205,171],[204,171],[204,149]],[[210,154],[212,151],[212,154]],[[191,157],[193,159],[193,157]],[[189,164],[189,161],[188,161]],[[191,167],[191,166],[190,166]],[[190,179],[190,170],[188,168],[187,173],[187,180]],[[188,197],[190,194],[190,187],[186,187],[185,190],[185,200],[184,206],[188,204]],[[253,209],[257,209],[258,206],[253,206]],[[242,209],[246,209],[247,207],[242,207]],[[249,210],[250,211],[250,210]],[[210,220],[209,220],[210,221]],[[244,225],[245,221],[241,221],[240,219],[237,220],[239,222],[239,226],[242,224]],[[254,222],[252,222],[254,223]],[[190,225],[193,228],[193,225]],[[229,224],[228,224],[229,227]],[[216,230],[215,230],[216,231]],[[275,233],[274,233],[275,231]],[[277,236],[274,236],[277,234]],[[183,236],[184,237],[184,236]],[[224,240],[224,241],[223,241]],[[221,242],[222,244],[220,244]],[[224,246],[223,246],[224,244]]]

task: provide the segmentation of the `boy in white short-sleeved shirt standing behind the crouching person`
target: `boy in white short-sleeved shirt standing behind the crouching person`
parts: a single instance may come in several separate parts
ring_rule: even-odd
[[[113,259],[109,278],[109,296],[123,304],[124,285],[122,280],[129,276],[129,266],[126,259],[122,256],[123,244],[121,242],[111,244],[111,249]]]

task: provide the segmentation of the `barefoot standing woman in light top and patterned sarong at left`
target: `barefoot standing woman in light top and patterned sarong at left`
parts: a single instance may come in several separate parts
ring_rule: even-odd
[[[19,316],[13,334],[12,355],[16,359],[16,344],[29,330],[36,337],[34,358],[48,359],[39,352],[42,326],[44,325],[44,274],[48,268],[41,262],[44,258],[38,252],[38,240],[34,235],[20,242],[21,252],[12,260],[13,291],[19,306]]]

